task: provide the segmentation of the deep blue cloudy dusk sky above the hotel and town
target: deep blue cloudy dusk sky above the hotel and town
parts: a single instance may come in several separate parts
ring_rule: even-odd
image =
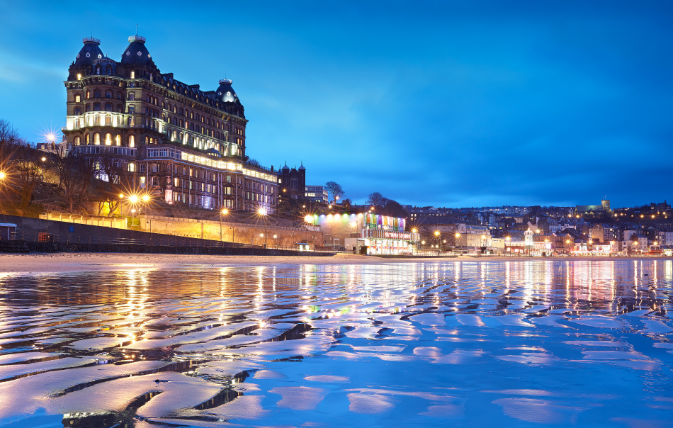
[[[673,201],[671,1],[3,1],[0,118],[65,124],[82,38],[204,91],[233,80],[247,154],[364,203]]]

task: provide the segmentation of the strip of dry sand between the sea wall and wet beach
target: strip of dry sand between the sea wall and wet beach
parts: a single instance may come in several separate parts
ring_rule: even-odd
[[[206,256],[201,254],[136,254],[136,253],[56,253],[1,254],[0,273],[44,273],[76,271],[108,271],[129,268],[180,268],[186,266],[263,266],[273,264],[390,264],[428,261],[599,261],[599,260],[671,260],[671,257],[414,257],[380,258],[355,254],[333,257],[281,256]]]

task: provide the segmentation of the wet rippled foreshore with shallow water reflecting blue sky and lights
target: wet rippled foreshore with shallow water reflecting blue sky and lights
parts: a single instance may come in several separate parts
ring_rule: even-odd
[[[9,427],[673,427],[673,262],[0,277]]]

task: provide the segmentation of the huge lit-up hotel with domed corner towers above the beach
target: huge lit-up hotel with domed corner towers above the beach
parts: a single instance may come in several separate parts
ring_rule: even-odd
[[[128,185],[166,203],[275,213],[278,171],[246,162],[244,108],[229,79],[202,91],[162,73],[131,36],[119,62],[85,38],[69,67],[67,149],[118,160]]]

